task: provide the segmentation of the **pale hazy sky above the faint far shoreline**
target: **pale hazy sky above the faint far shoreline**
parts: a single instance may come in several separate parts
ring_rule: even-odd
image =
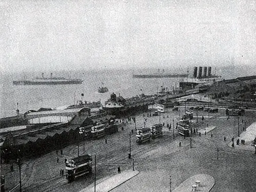
[[[252,0],[0,1],[3,71],[254,64]]]

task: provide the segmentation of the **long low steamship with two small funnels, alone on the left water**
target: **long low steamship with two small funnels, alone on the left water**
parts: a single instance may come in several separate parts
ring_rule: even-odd
[[[35,78],[32,80],[16,80],[13,81],[13,85],[58,85],[58,84],[82,84],[81,79],[65,79],[63,77],[51,77],[45,78],[44,73],[42,73],[41,78]]]

